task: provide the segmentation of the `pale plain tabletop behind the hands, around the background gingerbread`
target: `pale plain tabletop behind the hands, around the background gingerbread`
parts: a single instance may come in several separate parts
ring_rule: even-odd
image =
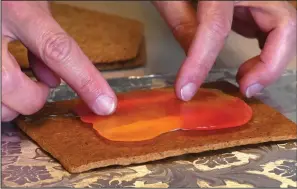
[[[183,50],[150,1],[66,1],[63,3],[137,19],[144,23],[147,44],[146,67],[103,72],[106,78],[176,73],[185,58]],[[215,67],[236,68],[259,53],[256,40],[246,39],[232,32],[217,58]],[[288,69],[296,69],[296,57],[290,62]]]

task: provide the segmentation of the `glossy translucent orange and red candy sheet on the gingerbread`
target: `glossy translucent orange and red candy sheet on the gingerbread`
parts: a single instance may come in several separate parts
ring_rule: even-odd
[[[118,95],[113,115],[95,115],[83,103],[75,112],[112,141],[144,141],[174,130],[237,127],[252,117],[243,100],[215,89],[199,89],[189,102],[177,99],[173,89],[134,91]]]

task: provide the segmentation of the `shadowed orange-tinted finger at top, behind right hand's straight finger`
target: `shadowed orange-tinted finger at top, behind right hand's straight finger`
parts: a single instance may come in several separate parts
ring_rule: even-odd
[[[185,52],[197,29],[196,12],[187,1],[153,1]]]

